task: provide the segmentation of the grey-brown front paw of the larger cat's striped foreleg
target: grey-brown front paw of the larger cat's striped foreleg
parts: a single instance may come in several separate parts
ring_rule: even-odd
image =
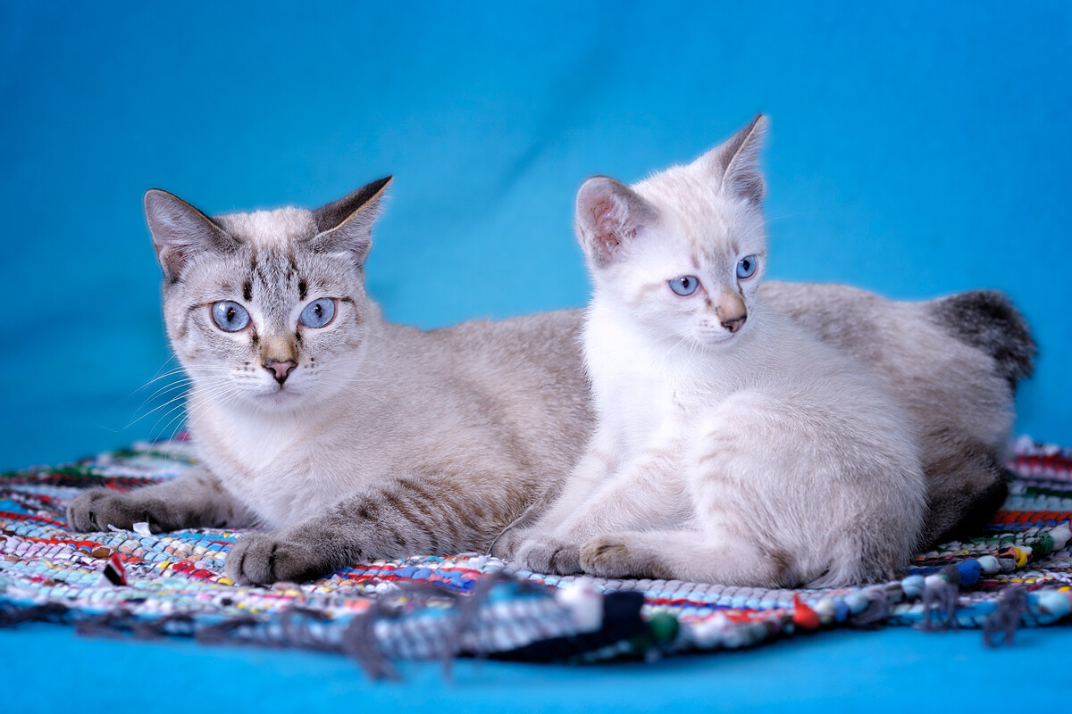
[[[265,586],[279,580],[301,582],[331,571],[319,549],[283,533],[247,533],[230,546],[224,561],[227,577],[239,584]]]

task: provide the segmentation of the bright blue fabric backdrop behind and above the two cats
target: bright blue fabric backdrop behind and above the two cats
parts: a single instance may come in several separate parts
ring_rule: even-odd
[[[1072,442],[1070,7],[2,3],[0,468],[175,428],[139,389],[168,359],[150,186],[224,212],[393,173],[370,289],[443,325],[583,304],[579,183],[758,110],[773,276],[1009,292],[1041,346],[1018,430]]]

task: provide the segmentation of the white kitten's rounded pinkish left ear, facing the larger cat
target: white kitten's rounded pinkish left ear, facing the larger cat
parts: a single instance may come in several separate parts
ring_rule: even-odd
[[[577,239],[599,268],[614,262],[657,215],[637,192],[605,176],[592,177],[577,192]]]

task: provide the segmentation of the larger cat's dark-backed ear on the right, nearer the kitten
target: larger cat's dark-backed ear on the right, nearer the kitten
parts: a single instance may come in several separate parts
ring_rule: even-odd
[[[379,217],[384,192],[392,177],[377,179],[338,201],[313,211],[317,233],[309,247],[323,253],[346,253],[354,264],[364,264],[372,247],[372,224]]]

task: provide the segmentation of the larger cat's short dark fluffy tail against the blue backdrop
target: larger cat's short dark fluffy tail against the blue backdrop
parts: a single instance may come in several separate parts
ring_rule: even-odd
[[[961,341],[994,358],[996,370],[1009,382],[1031,376],[1038,348],[1027,320],[997,290],[971,290],[929,302],[935,320]]]

